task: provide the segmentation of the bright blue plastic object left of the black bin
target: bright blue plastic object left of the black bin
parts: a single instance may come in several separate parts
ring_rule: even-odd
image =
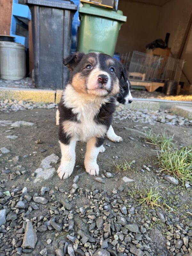
[[[27,21],[26,23],[24,21]],[[25,45],[28,48],[28,36],[16,35],[17,26],[28,30],[28,20],[31,20],[29,7],[25,4],[18,4],[18,0],[13,0],[10,36],[15,37],[15,42]]]

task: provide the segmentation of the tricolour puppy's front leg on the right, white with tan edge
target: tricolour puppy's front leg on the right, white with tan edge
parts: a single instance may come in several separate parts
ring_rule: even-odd
[[[91,175],[99,175],[99,165],[97,164],[97,156],[100,152],[104,138],[97,139],[92,137],[87,141],[87,150],[85,153],[85,171]]]

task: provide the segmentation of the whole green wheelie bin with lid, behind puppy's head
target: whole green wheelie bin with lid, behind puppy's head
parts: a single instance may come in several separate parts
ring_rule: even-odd
[[[79,31],[79,52],[102,52],[113,56],[119,30],[127,17],[122,11],[112,11],[84,4],[79,7],[81,26]]]

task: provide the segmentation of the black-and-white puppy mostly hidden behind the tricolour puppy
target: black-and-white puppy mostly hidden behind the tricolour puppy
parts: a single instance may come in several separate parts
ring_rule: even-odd
[[[122,104],[130,104],[133,101],[132,95],[131,95],[131,84],[129,82],[129,80],[127,79],[127,81],[125,82],[123,78],[121,78],[120,80],[120,90],[119,93],[117,95],[117,102],[116,105],[118,105],[119,103]],[[110,125],[108,132],[107,132],[107,138],[113,142],[121,142],[123,141],[123,138],[116,135],[116,133],[113,130],[112,125]],[[103,147],[101,152],[104,152],[105,148]]]

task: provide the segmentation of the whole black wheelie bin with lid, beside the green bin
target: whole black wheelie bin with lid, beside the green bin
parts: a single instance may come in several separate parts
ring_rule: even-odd
[[[62,59],[71,51],[71,23],[77,6],[63,0],[25,0],[31,10],[35,83],[62,89],[68,69]]]

